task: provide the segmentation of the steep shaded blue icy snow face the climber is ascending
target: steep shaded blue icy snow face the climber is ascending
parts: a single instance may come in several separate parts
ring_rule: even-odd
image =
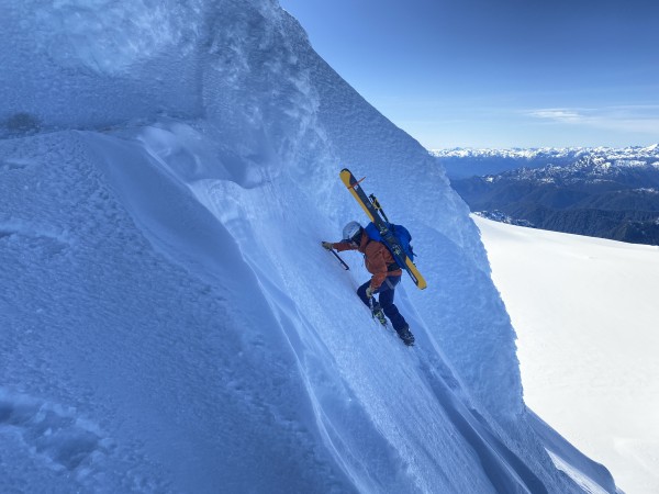
[[[615,492],[527,412],[442,170],[277,2],[2,7],[0,490]],[[414,233],[415,348],[319,246],[346,165]]]

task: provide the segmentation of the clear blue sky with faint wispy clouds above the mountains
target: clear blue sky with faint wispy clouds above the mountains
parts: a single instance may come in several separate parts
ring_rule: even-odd
[[[659,2],[280,0],[427,148],[659,142]]]

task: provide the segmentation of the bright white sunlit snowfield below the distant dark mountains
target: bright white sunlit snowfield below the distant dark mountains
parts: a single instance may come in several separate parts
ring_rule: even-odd
[[[659,492],[659,248],[474,220],[526,403],[626,492]]]

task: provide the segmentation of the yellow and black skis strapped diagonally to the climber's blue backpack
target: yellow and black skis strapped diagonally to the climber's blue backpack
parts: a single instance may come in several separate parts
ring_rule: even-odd
[[[410,278],[412,278],[412,281],[414,281],[414,284],[416,284],[416,287],[420,290],[425,289],[427,287],[425,279],[423,278],[421,272],[418,272],[416,265],[412,262],[412,259],[407,257],[400,243],[398,242],[398,238],[395,238],[393,234],[389,231],[389,222],[384,221],[380,215],[380,211],[382,210],[380,203],[378,203],[377,201],[376,203],[373,203],[373,200],[369,199],[369,197],[361,188],[360,182],[364,181],[364,178],[357,180],[355,176],[350,172],[350,170],[344,168],[343,170],[340,170],[340,180],[348,188],[355,200],[365,211],[366,215],[378,227],[382,239],[391,250],[399,266],[402,266],[403,269],[407,271],[407,274],[410,274]]]

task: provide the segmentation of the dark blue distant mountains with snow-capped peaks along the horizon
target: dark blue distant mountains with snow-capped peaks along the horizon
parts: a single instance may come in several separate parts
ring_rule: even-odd
[[[471,211],[483,216],[556,232],[659,245],[657,145],[450,150],[435,156],[445,166],[445,159],[454,165],[462,161],[458,175],[453,173],[451,184]],[[540,166],[541,160],[549,162]],[[484,176],[468,171],[504,164],[513,169]]]

